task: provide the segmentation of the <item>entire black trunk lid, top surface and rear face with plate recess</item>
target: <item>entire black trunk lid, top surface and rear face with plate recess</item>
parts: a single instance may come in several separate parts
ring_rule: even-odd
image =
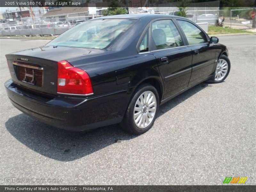
[[[44,46],[6,55],[13,82],[31,91],[57,94],[58,61],[97,54],[103,50]]]

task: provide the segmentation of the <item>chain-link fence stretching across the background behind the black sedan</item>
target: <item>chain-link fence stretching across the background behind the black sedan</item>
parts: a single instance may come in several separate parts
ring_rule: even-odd
[[[177,7],[148,7],[129,8],[130,14],[164,14],[176,15]],[[216,7],[208,7],[207,10],[200,10],[198,7],[189,7],[186,11],[186,18],[195,23],[208,23],[208,25],[220,25],[231,28],[252,28],[250,14],[253,9],[219,10]],[[92,19],[88,13],[79,13],[78,16],[59,15],[53,17],[26,17],[20,20],[13,20],[8,23],[1,23],[0,36],[57,36],[69,28],[81,22]],[[95,15],[94,17],[101,17]]]

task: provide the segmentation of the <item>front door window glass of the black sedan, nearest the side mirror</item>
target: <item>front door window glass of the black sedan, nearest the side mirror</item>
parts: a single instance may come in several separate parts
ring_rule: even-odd
[[[204,32],[188,21],[177,20],[188,39],[189,45],[206,43]]]

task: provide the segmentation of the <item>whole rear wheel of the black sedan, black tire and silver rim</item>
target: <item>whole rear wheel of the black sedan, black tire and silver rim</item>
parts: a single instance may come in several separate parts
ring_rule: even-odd
[[[151,84],[141,84],[133,93],[132,100],[121,123],[122,128],[133,134],[147,132],[154,124],[159,107],[159,96]]]

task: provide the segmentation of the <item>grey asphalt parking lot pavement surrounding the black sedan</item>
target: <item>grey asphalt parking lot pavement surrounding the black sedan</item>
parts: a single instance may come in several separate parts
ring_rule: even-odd
[[[221,185],[225,177],[248,177],[245,185],[256,185],[256,36],[219,39],[229,49],[227,79],[165,103],[140,136],[118,125],[68,132],[22,114],[4,90],[4,55],[49,40],[0,39],[0,184],[24,184],[4,181],[15,177],[63,185]]]

